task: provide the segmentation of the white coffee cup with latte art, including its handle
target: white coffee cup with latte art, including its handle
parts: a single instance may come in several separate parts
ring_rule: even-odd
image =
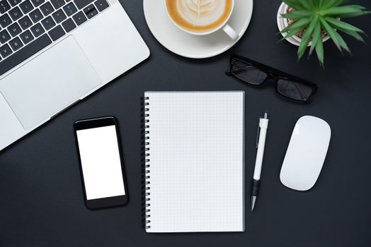
[[[164,0],[170,20],[192,35],[210,35],[222,29],[232,40],[239,35],[227,24],[234,0]]]

